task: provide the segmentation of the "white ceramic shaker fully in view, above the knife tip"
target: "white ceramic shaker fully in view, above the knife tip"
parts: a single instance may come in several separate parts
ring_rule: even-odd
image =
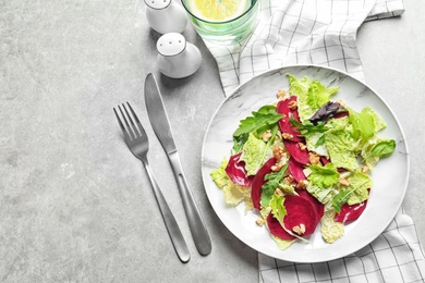
[[[202,63],[199,49],[178,33],[162,35],[157,41],[157,65],[169,77],[181,78],[195,73]]]

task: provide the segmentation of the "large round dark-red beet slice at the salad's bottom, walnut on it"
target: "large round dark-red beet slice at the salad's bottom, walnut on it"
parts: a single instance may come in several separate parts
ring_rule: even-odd
[[[308,236],[314,233],[318,223],[318,214],[315,205],[300,196],[286,196],[284,208],[287,216],[283,218],[284,226],[293,231],[295,226],[304,224],[305,232],[300,236]]]

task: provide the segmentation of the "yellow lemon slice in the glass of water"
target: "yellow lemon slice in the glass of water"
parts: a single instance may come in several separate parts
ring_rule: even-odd
[[[191,0],[191,11],[199,19],[212,22],[229,21],[241,15],[250,0]]]

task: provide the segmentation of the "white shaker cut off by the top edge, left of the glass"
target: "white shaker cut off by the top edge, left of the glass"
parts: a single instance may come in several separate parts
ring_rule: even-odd
[[[159,34],[182,33],[187,25],[183,8],[172,0],[145,0],[146,19]]]

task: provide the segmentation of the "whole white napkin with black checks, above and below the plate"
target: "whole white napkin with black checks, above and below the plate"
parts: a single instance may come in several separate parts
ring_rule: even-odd
[[[402,0],[258,0],[260,21],[248,40],[206,42],[228,96],[267,70],[315,64],[363,81],[356,33],[365,21],[401,15]],[[425,260],[412,219],[399,211],[365,248],[323,263],[294,263],[258,255],[260,282],[424,282]]]

